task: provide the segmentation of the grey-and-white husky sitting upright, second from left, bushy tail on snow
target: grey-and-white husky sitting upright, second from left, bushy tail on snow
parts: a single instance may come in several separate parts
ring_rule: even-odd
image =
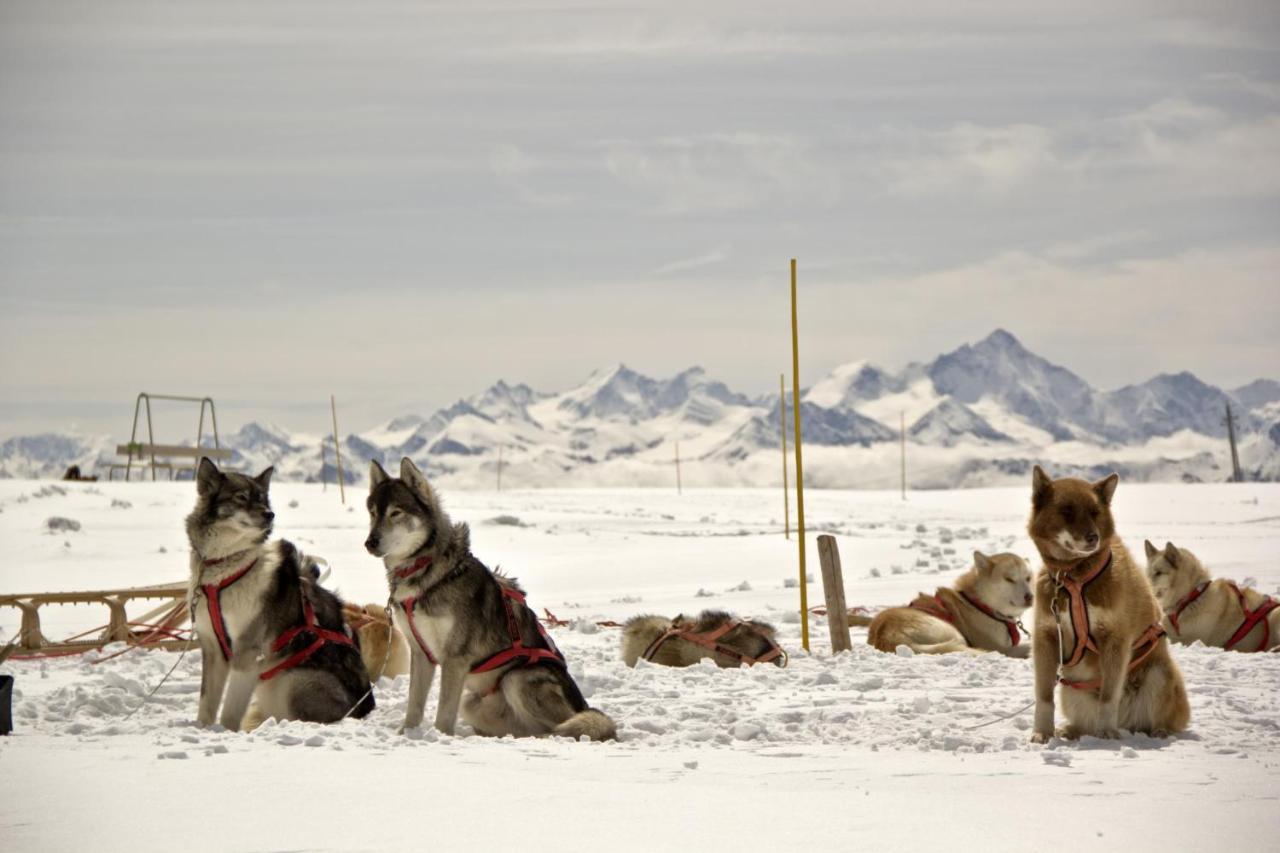
[[[401,462],[399,479],[372,462],[369,487],[365,547],[387,566],[396,622],[410,638],[403,727],[421,725],[439,667],[435,727],[445,734],[461,704],[483,735],[616,738],[613,720],[586,706],[524,592],[471,555],[467,525],[449,521],[413,462]]]

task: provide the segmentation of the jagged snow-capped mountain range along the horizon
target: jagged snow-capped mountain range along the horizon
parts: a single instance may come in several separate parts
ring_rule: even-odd
[[[369,460],[394,466],[410,456],[447,485],[492,487],[500,452],[512,487],[669,485],[678,447],[685,484],[776,484],[783,421],[795,441],[787,402],[782,412],[777,394],[751,398],[700,368],[654,379],[620,364],[558,393],[498,382],[346,435],[343,474],[358,482]],[[919,488],[1020,482],[1034,462],[1084,476],[1225,480],[1228,403],[1245,476],[1280,479],[1280,383],[1224,391],[1176,373],[1098,391],[997,329],[899,371],[852,361],[803,389],[806,482],[897,485],[902,432]],[[301,480],[337,474],[323,435],[253,423],[224,444],[234,467],[275,465],[278,476]],[[0,475],[56,475],[73,462],[91,471],[113,451],[105,437],[10,438],[0,444]]]

